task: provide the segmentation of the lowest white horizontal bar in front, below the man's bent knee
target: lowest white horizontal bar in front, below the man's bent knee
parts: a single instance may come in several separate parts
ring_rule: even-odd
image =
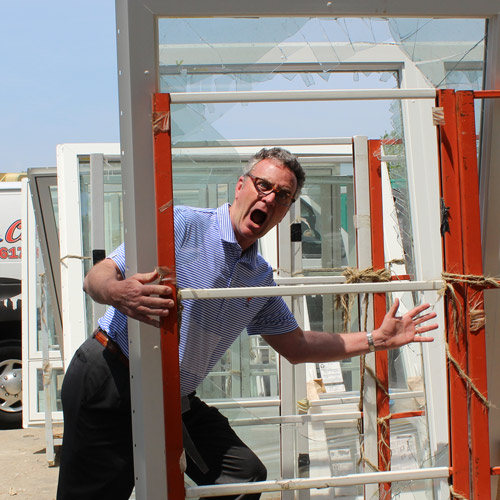
[[[389,472],[368,472],[346,476],[314,479],[281,479],[256,483],[234,483],[214,486],[194,486],[186,488],[186,498],[237,495],[264,491],[309,490],[312,488],[331,488],[334,486],[355,486],[360,484],[390,483],[419,479],[445,479],[450,475],[448,467],[411,469]]]

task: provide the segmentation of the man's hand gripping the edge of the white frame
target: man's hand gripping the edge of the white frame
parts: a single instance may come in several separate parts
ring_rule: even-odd
[[[160,326],[151,316],[168,316],[174,301],[169,286],[150,284],[159,278],[158,272],[137,273],[130,278],[115,281],[110,290],[111,305],[130,318],[148,325]]]

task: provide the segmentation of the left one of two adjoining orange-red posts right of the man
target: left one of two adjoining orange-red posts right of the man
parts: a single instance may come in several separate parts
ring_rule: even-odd
[[[441,196],[444,203],[442,232],[444,247],[444,269],[450,273],[463,274],[461,204],[459,193],[459,154],[456,119],[456,99],[453,90],[438,90],[437,104],[444,108],[444,124],[439,125],[439,153],[441,171]],[[456,286],[457,307],[465,307],[464,290]],[[467,372],[467,344],[465,335],[455,325],[452,300],[446,304],[447,336],[449,354],[464,372]],[[463,321],[458,318],[457,321]],[[450,415],[450,448],[452,485],[455,493],[470,498],[470,458],[467,387],[456,367],[448,363],[448,397]]]

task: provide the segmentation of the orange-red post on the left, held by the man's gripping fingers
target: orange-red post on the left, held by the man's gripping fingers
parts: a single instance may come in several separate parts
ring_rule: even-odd
[[[179,375],[179,333],[175,286],[175,242],[172,182],[170,95],[153,96],[153,134],[156,197],[158,267],[162,284],[172,289],[175,307],[161,319],[163,407],[165,414],[165,453],[167,497],[185,497],[184,474],[180,467],[183,453]]]

